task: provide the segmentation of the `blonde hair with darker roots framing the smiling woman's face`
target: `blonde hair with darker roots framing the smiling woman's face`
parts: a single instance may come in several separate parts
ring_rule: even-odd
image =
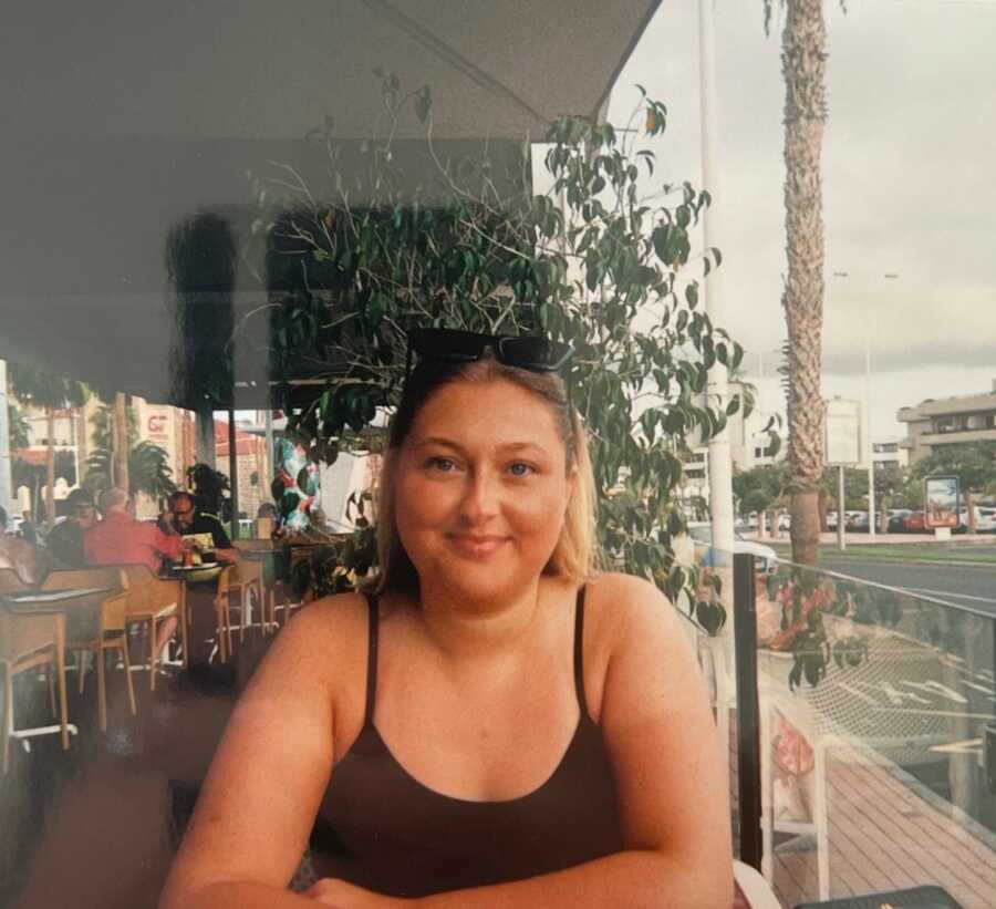
[[[405,383],[401,404],[387,431],[387,450],[375,489],[377,555],[380,571],[372,579],[378,593],[395,590],[416,592],[418,575],[402,545],[394,517],[394,478],[402,445],[412,432],[415,417],[440,388],[455,382],[506,380],[532,392],[550,407],[558,434],[567,448],[568,472],[577,471],[573,490],[564,513],[563,527],[544,575],[575,583],[587,580],[596,567],[595,485],[588,453],[588,435],[578,412],[570,406],[563,380],[556,373],[531,372],[508,366],[492,357],[470,363],[423,362]]]

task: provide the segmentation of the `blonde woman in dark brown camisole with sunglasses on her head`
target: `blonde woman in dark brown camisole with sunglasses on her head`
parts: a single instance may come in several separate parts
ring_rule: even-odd
[[[162,906],[727,909],[727,781],[695,659],[654,587],[591,570],[591,469],[554,372],[569,349],[409,341],[376,595],[281,632]],[[315,816],[335,847],[292,893]]]

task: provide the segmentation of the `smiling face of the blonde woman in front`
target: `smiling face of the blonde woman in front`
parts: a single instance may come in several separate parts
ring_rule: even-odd
[[[533,582],[574,484],[550,406],[505,380],[444,385],[402,445],[394,513],[423,591],[467,600]]]

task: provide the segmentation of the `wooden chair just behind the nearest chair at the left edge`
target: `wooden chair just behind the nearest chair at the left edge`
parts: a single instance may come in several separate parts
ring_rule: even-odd
[[[127,595],[121,587],[121,571],[117,568],[84,568],[50,571],[42,581],[42,590],[72,590],[74,588],[106,587],[110,593],[95,593],[73,603],[66,613],[66,649],[76,653],[80,673],[80,693],[86,678],[85,652],[93,653],[97,673],[97,710],[101,731],[107,729],[107,688],[105,680],[104,651],[121,651],[125,681],[128,688],[128,703],[132,715],[136,715],[135,689],[128,661]]]

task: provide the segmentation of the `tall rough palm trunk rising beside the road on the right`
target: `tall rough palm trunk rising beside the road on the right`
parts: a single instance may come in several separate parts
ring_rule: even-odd
[[[827,116],[826,25],[821,0],[788,0],[782,33],[785,214],[788,275],[788,463],[792,560],[819,561],[819,486],[823,472],[823,217],[820,152]]]

